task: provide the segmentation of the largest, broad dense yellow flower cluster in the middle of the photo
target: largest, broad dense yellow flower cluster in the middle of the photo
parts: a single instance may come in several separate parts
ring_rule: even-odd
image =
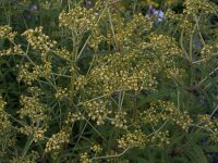
[[[95,86],[101,87],[102,95],[121,90],[149,90],[157,84],[154,64],[143,60],[137,52],[117,52],[99,59],[96,64],[89,78]]]

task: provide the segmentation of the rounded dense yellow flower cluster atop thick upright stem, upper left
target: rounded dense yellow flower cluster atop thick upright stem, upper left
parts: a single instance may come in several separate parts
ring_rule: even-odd
[[[95,27],[98,18],[98,13],[93,9],[76,7],[69,13],[62,12],[59,15],[59,26],[68,27],[75,33],[84,33]]]

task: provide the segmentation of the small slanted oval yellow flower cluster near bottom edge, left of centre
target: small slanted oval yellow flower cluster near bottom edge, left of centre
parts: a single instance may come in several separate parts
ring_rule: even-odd
[[[50,152],[53,150],[60,150],[62,145],[69,142],[69,134],[64,130],[60,130],[57,134],[53,134],[51,138],[46,143],[45,152]]]

